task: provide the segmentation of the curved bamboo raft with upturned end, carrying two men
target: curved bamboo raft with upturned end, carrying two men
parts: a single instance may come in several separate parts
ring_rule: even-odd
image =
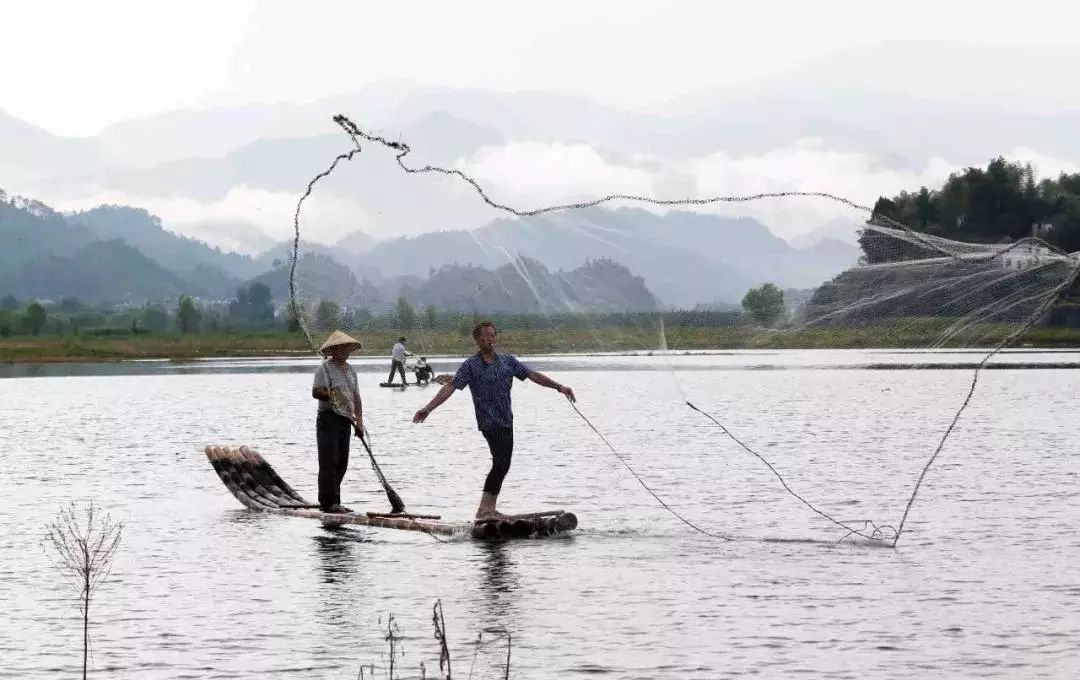
[[[525,539],[572,531],[578,518],[562,509],[508,515],[486,521],[441,521],[438,515],[410,513],[324,513],[297,493],[257,451],[207,446],[214,472],[240,503],[253,511],[308,517],[327,522],[403,529],[436,535],[465,534],[474,539]]]

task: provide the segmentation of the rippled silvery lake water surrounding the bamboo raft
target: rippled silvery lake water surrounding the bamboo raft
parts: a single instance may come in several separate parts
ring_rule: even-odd
[[[402,677],[421,663],[438,677],[441,599],[456,678],[502,677],[494,630],[512,636],[512,678],[1076,678],[1080,354],[995,358],[1013,369],[981,375],[896,549],[838,542],[842,529],[684,404],[824,512],[895,526],[980,357],[538,358],[650,488],[729,540],[664,511],[564,399],[525,383],[500,509],[564,507],[580,528],[510,543],[243,509],[203,447],[247,444],[313,499],[314,359],[0,366],[0,678],[77,674],[77,591],[42,546],[71,500],[124,523],[92,610],[95,677],[346,679],[374,663],[381,678],[389,614]],[[890,366],[908,368],[874,369]],[[437,387],[379,389],[386,363],[361,369],[397,492],[470,517],[489,457],[468,395],[414,425]],[[357,453],[343,498],[384,509]]]

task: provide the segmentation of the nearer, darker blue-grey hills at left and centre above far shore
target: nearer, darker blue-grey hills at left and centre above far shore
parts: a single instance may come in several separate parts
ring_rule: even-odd
[[[291,250],[282,257],[271,251],[249,258],[173,234],[139,208],[110,205],[65,216],[37,201],[3,199],[0,295],[54,300],[72,296],[84,302],[139,305],[181,295],[222,300],[240,286],[262,283],[279,303],[289,297]],[[442,236],[432,234],[435,243]],[[449,235],[451,241],[460,237]],[[570,264],[555,270],[527,257],[490,268],[435,268],[426,262],[427,276],[404,272],[373,282],[356,275],[365,271],[359,260],[368,256],[369,246],[372,241],[361,233],[336,246],[301,244],[296,278],[301,299],[332,299],[373,312],[392,309],[402,296],[415,305],[456,312],[588,313],[660,307],[642,276],[610,259],[573,262],[572,255],[564,254],[561,261]],[[338,258],[357,260],[352,263],[356,271]],[[264,273],[241,278],[238,274],[244,271]]]

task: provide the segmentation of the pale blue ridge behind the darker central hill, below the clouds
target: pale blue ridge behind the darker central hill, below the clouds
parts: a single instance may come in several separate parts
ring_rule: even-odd
[[[767,281],[815,286],[854,264],[859,253],[832,240],[795,248],[751,218],[589,208],[383,241],[357,257],[339,259],[367,276],[376,271],[422,275],[447,266],[494,269],[517,257],[567,270],[610,259],[643,276],[661,305],[692,308],[716,299],[738,301]]]

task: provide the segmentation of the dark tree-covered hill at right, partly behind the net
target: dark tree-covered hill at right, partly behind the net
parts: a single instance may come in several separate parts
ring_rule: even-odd
[[[1080,174],[1061,174],[1053,179],[1036,180],[1030,165],[1010,163],[1001,158],[985,169],[969,167],[954,173],[940,189],[922,187],[917,192],[901,192],[880,198],[874,206],[876,217],[887,217],[915,231],[943,239],[975,244],[1008,244],[1037,236],[1067,253],[1080,250]],[[941,253],[916,243],[892,239],[888,234],[864,230],[859,239],[863,261],[868,264],[939,257]],[[957,250],[960,253],[961,250]],[[1003,260],[994,267],[1008,266]],[[960,299],[958,290],[969,290],[987,302],[1008,299],[1018,286],[1028,286],[1024,295],[1051,293],[1040,289],[1030,278],[996,275],[983,271],[976,276],[971,267],[960,266],[929,274],[917,267],[875,269],[859,268],[843,272],[814,291],[807,308],[809,317],[835,323],[835,310],[859,309],[865,317],[878,321],[892,316],[949,316],[963,310],[972,298]],[[867,278],[873,276],[873,282]],[[928,287],[929,281],[934,284]],[[977,288],[971,288],[977,281]],[[873,285],[878,296],[867,297]],[[1039,323],[1049,326],[1080,327],[1080,284],[1063,290]],[[856,304],[858,303],[858,304]],[[990,309],[990,308],[987,308]],[[1011,311],[1023,310],[1016,305]],[[1007,309],[995,313],[1005,314]],[[1034,310],[1028,310],[1030,313]],[[976,312],[968,310],[967,314]],[[988,311],[980,313],[989,314]],[[985,322],[986,316],[982,321]],[[1002,316],[1001,318],[1007,318]]]

